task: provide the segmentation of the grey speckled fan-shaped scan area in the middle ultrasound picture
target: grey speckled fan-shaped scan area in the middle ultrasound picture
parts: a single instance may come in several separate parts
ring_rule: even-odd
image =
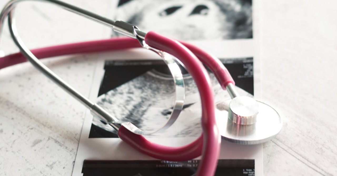
[[[210,76],[215,101],[230,99],[214,75]],[[191,76],[184,75],[184,81],[185,102],[178,119],[165,132],[148,137],[197,137],[201,134],[200,95]],[[252,97],[239,87],[237,89],[240,95]],[[171,114],[174,94],[172,76],[151,70],[99,96],[97,104],[121,121],[130,121],[142,130],[153,131],[163,126]],[[117,133],[99,119],[94,118],[93,125]]]

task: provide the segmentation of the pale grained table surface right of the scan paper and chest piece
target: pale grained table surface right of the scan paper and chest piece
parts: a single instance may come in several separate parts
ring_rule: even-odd
[[[263,1],[262,97],[283,116],[269,175],[337,174],[336,1]]]

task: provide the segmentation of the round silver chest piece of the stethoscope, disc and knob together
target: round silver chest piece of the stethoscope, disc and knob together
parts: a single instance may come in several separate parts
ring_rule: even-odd
[[[238,144],[267,142],[282,128],[275,109],[245,96],[216,103],[215,116],[222,139]]]

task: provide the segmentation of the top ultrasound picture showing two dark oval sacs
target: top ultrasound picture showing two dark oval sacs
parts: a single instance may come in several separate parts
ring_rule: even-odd
[[[181,40],[252,38],[251,0],[121,0],[114,19]]]

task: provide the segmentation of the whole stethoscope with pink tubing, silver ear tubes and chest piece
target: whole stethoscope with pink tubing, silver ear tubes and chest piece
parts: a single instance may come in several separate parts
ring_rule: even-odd
[[[20,39],[13,17],[14,7],[22,1],[24,0],[12,0],[8,2],[0,14],[0,34],[4,19],[8,15],[11,37],[21,51],[21,54],[17,53],[0,58],[0,69],[24,62],[26,58],[39,71],[89,108],[94,115],[118,130],[120,139],[142,153],[160,160],[169,161],[186,161],[202,155],[196,175],[211,176],[216,169],[221,138],[240,144],[259,144],[270,140],[281,130],[282,119],[276,110],[250,97],[239,96],[235,89],[233,78],[216,57],[191,44],[172,40],[154,32],[144,33],[134,25],[122,21],[109,20],[58,0],[44,1],[56,4],[66,10],[111,27],[114,31],[129,38],[111,38],[65,44],[30,51]],[[173,111],[167,122],[158,130],[143,131],[131,122],[119,121],[103,108],[74,90],[68,83],[38,60],[38,58],[135,47],[143,47],[156,52],[168,66],[175,82],[176,99]],[[161,132],[170,127],[178,118],[183,108],[184,81],[177,62],[184,65],[200,92],[203,133],[190,144],[181,147],[168,147],[152,143],[143,135]],[[221,87],[227,90],[231,96],[231,100],[215,104],[210,77],[203,64],[214,73]],[[218,129],[218,126],[221,126],[221,128]]]

